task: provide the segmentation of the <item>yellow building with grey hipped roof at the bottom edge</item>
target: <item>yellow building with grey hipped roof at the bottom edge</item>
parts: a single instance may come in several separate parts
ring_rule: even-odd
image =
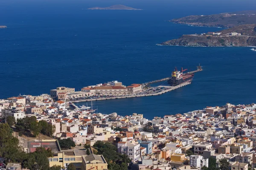
[[[108,163],[102,155],[92,153],[82,157],[82,170],[108,170]]]

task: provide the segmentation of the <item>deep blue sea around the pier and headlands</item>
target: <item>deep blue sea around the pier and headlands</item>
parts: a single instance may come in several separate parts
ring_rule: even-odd
[[[143,10],[87,10],[116,4]],[[94,101],[93,108],[153,119],[256,102],[251,47],[156,45],[223,29],[168,22],[173,18],[255,8],[255,0],[1,0],[0,25],[8,28],[0,29],[0,98],[112,80],[143,83],[171,76],[175,67],[194,70],[200,64],[204,71],[191,85],[160,96]]]

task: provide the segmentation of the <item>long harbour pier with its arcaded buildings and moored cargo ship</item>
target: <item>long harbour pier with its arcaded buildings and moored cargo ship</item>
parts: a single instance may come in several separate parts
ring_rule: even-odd
[[[186,70],[187,69],[183,70],[183,68],[181,68],[181,71],[177,71],[177,68],[175,68],[171,77],[142,84],[131,84],[129,86],[125,86],[122,82],[112,81],[103,84],[89,85],[81,88],[81,91],[75,91],[74,88],[58,87],[51,90],[50,94],[52,98],[65,101],[67,103],[157,96],[177,88],[181,88],[185,85],[189,85],[192,82],[194,73],[203,71],[200,65],[197,67],[197,70],[183,74],[183,71]],[[168,82],[169,85],[150,87],[150,84],[164,81]]]

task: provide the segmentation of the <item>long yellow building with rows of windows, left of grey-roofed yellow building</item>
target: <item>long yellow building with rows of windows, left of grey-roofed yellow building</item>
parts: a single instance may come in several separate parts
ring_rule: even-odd
[[[82,156],[76,156],[74,151],[64,151],[53,154],[53,157],[48,158],[50,167],[53,165],[60,165],[67,167],[68,164],[73,163],[77,169],[82,167]]]

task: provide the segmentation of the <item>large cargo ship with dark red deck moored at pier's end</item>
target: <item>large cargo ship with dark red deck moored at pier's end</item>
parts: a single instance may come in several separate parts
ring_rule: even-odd
[[[194,73],[183,74],[183,71],[187,71],[187,69],[183,70],[183,68],[181,68],[181,71],[178,71],[177,67],[175,67],[174,71],[172,71],[172,77],[170,77],[167,81],[168,84],[175,86],[180,85],[183,82],[191,82],[194,77]]]

